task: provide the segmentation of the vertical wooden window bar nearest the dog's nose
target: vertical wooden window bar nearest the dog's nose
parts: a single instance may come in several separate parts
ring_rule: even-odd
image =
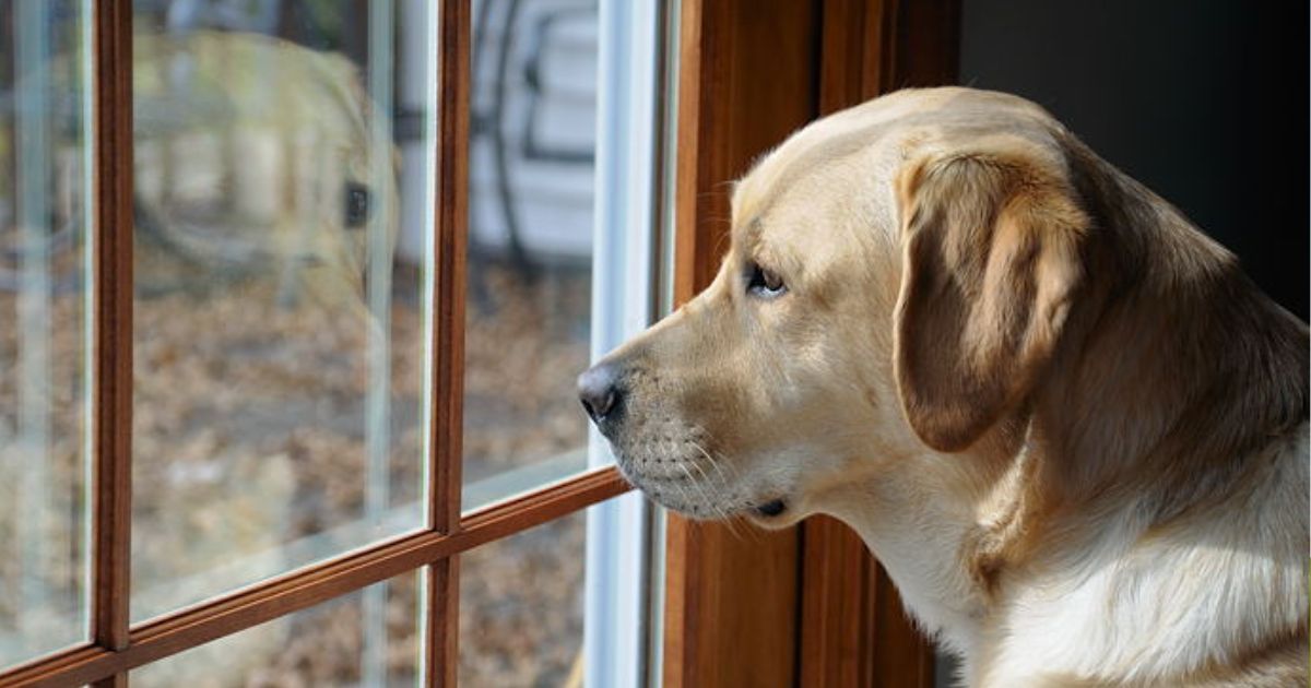
[[[468,239],[469,0],[438,5],[437,216],[433,241],[433,402],[429,429],[429,528],[460,527],[464,463],[464,292]],[[454,687],[459,666],[459,557],[429,565],[423,609],[423,678]]]

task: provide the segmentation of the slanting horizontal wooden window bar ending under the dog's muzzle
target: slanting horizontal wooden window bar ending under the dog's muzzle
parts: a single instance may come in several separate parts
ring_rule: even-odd
[[[231,592],[134,626],[125,650],[115,653],[85,645],[0,674],[0,685],[81,685],[111,678],[541,526],[628,490],[628,484],[614,468],[585,473],[471,514],[454,533],[421,531]]]

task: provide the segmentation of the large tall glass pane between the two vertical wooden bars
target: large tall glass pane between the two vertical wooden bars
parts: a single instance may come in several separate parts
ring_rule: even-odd
[[[435,16],[134,7],[144,619],[423,526]]]

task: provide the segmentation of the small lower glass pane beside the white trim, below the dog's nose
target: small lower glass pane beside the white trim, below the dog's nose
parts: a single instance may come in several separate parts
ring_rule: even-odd
[[[460,557],[460,685],[581,685],[582,511]]]

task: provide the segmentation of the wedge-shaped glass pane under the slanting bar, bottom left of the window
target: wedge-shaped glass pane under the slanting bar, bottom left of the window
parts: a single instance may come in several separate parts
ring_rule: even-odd
[[[131,672],[134,688],[417,685],[418,573],[194,647]]]

